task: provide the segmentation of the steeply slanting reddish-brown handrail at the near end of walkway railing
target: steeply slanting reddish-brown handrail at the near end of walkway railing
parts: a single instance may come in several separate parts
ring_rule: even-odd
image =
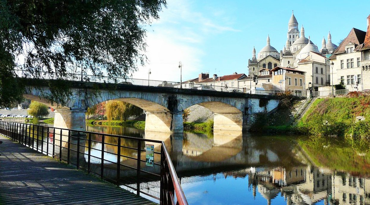
[[[163,152],[164,152],[165,157],[167,159],[166,161],[167,161],[168,169],[169,169],[169,172],[171,174],[172,181],[173,181],[173,185],[174,185],[174,189],[175,189],[175,193],[176,193],[176,198],[177,198],[177,204],[179,204],[179,205],[188,205],[188,201],[186,200],[184,191],[181,188],[179,178],[177,177],[174,164],[172,164],[171,157],[168,154],[168,151],[167,151],[167,148],[166,148],[164,142],[162,142],[162,149],[163,149]]]

